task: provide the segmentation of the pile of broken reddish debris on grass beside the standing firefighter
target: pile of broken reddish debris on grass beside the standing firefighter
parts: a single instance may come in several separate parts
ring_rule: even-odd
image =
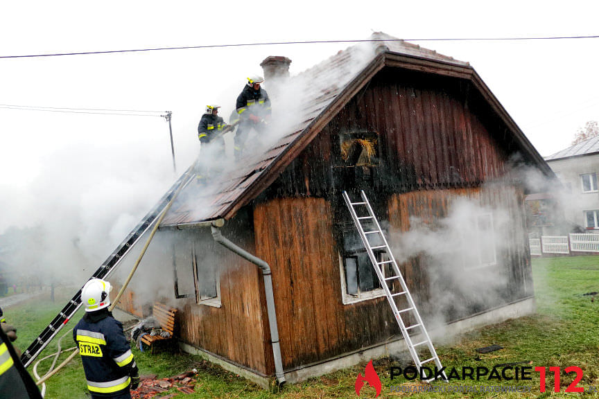
[[[196,375],[196,373],[198,371],[193,369],[171,378],[156,378],[155,374],[141,375],[139,387],[131,391],[131,397],[132,399],[170,399],[179,392],[193,393],[193,388],[196,386],[193,375]],[[179,392],[165,393],[173,388],[176,388]]]

